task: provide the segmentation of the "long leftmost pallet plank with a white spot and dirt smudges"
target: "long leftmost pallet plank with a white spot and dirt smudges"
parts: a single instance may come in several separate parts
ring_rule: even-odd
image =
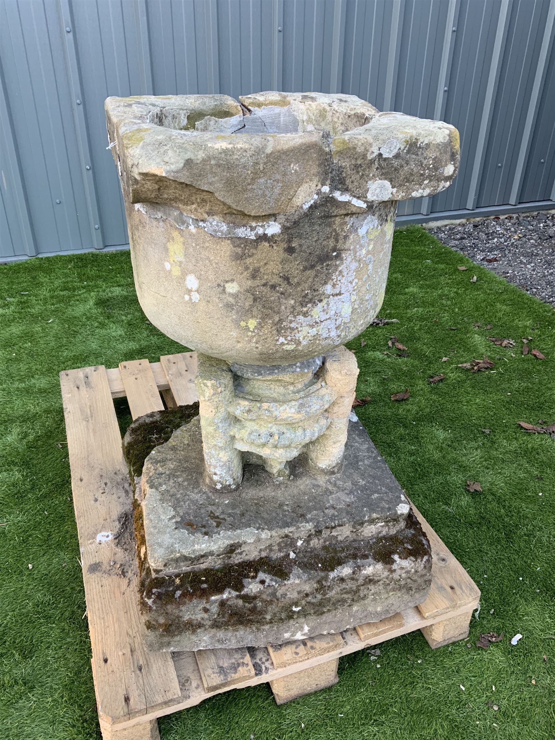
[[[132,491],[106,370],[62,371],[60,382],[98,716],[154,719],[181,692],[171,655],[141,637]]]

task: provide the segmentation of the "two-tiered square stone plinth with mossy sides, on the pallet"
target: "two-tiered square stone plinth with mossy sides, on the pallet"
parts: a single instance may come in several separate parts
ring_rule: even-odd
[[[246,465],[236,491],[204,480],[198,419],[147,457],[141,597],[155,650],[266,645],[338,632],[423,602],[428,540],[358,421],[343,465],[303,457],[275,482]]]

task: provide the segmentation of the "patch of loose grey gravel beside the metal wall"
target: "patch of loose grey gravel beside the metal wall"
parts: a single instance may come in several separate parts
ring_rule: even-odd
[[[473,262],[555,306],[555,213],[496,216],[428,230]]]

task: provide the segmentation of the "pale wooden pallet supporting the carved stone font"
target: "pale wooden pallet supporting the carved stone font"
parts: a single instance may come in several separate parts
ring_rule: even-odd
[[[60,373],[73,505],[77,519],[92,676],[104,740],[155,740],[156,719],[230,688],[270,682],[278,703],[337,681],[340,656],[421,630],[431,647],[468,635],[480,591],[428,522],[413,510],[431,542],[428,598],[382,622],[287,645],[198,653],[150,653],[141,638],[138,569],[132,538],[132,489],[112,399],[127,397],[133,419],[192,403],[195,353],[159,363],[132,360]],[[162,396],[162,397],[161,397]],[[127,545],[121,545],[127,542]]]

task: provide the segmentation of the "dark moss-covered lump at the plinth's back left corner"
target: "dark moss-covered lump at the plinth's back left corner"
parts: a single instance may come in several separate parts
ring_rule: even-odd
[[[164,411],[152,411],[138,417],[129,426],[123,440],[124,457],[129,465],[131,479],[143,472],[144,461],[155,447],[169,440],[180,426],[198,416],[198,403]]]

